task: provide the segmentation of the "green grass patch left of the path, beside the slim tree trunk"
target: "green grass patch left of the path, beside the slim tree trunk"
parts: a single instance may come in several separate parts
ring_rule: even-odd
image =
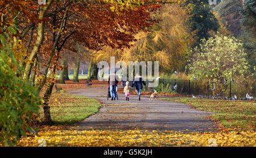
[[[96,99],[72,95],[67,92],[55,92],[49,100],[52,121],[55,123],[75,123],[97,113],[101,104]],[[43,119],[43,109],[40,109]]]

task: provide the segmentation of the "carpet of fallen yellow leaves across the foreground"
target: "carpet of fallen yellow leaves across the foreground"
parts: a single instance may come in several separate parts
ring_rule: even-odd
[[[256,146],[255,138],[254,131],[181,133],[139,129],[77,130],[69,126],[46,126],[40,129],[37,136],[20,139],[18,146]]]

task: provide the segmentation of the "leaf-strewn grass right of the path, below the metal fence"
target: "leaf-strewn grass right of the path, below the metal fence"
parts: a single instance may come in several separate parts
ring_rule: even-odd
[[[193,108],[213,112],[213,118],[228,130],[256,130],[256,102],[240,100],[193,99],[171,97],[163,100],[191,105]]]

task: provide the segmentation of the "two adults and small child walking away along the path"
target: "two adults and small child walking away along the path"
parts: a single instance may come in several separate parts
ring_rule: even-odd
[[[111,100],[115,100],[115,98],[117,97],[117,84],[118,84],[118,76],[115,74],[115,71],[113,71],[112,74],[110,74],[108,83],[109,83]],[[125,83],[125,87],[123,88],[123,93],[125,93],[126,100],[129,101],[131,87],[135,87],[138,94],[138,100],[141,100],[141,92],[142,92],[143,84],[144,86],[146,86],[146,83],[144,82],[144,80],[142,80],[142,76],[139,75],[139,73],[136,74],[131,86],[130,86],[130,82],[127,81]]]

